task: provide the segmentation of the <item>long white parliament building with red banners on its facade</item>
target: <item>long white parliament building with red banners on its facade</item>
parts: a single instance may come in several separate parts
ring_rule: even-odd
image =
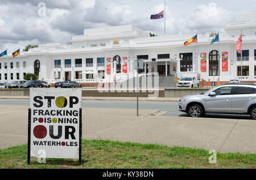
[[[241,30],[242,61],[236,52]],[[209,32],[198,34],[197,43],[184,46],[195,34],[150,37],[133,25],[85,29],[84,35],[73,36],[69,44],[39,45],[15,58],[9,52],[0,58],[0,82],[21,80],[33,73],[48,83],[73,80],[95,86],[133,78],[137,72],[134,60],[143,59],[141,76],[152,72],[177,78],[196,75],[200,84],[206,86],[217,82],[218,77],[221,83],[241,79],[242,64],[243,82],[256,83],[256,13],[239,15],[236,22],[226,24],[224,31],[219,35],[219,43],[210,45],[216,32]],[[225,67],[221,63],[223,52]],[[203,68],[202,54],[206,64]]]

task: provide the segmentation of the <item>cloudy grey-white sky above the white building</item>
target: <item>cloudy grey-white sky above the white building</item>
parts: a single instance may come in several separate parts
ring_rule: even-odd
[[[226,22],[256,12],[255,7],[256,0],[166,0],[167,35],[223,31]],[[0,53],[27,44],[67,43],[85,28],[105,27],[106,16],[110,26],[133,24],[163,35],[164,20],[150,20],[163,9],[164,0],[0,0]]]

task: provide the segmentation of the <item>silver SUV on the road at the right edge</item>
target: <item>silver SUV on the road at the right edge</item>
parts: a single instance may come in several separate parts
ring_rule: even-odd
[[[218,113],[250,114],[256,119],[256,84],[222,84],[200,95],[184,96],[179,110],[191,117]]]

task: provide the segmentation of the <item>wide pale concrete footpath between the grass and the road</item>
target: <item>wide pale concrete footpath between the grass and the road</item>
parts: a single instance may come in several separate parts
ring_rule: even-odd
[[[0,106],[0,148],[27,143],[27,106]],[[82,138],[256,153],[256,121],[163,117],[151,110],[82,109]]]

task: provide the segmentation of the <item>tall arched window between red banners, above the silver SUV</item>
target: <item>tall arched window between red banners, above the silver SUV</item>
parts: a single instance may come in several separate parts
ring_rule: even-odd
[[[209,76],[218,76],[218,51],[209,53]]]

